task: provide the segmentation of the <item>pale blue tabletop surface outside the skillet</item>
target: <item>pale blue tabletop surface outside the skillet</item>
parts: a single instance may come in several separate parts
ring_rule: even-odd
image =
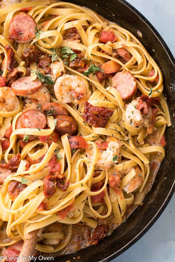
[[[175,0],[128,0],[157,29],[175,56]],[[175,194],[150,230],[112,262],[175,262]]]

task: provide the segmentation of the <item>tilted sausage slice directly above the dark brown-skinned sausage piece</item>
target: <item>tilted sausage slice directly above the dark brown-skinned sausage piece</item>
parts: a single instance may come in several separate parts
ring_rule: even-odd
[[[65,114],[68,115],[68,111],[65,106],[62,106],[59,103],[52,102],[52,103],[47,103],[42,106],[42,112],[47,114],[47,115],[52,115],[52,116],[58,116],[60,114]]]

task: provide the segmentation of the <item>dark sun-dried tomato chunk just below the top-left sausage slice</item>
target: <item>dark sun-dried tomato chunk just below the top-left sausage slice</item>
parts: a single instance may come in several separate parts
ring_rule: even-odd
[[[25,61],[26,65],[39,61],[40,57],[44,55],[44,53],[35,45],[26,47],[21,54],[21,59]]]

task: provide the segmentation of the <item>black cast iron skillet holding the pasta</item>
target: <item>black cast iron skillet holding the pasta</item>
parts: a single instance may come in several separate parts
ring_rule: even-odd
[[[168,46],[147,19],[125,0],[75,0],[69,1],[96,11],[104,18],[131,31],[146,47],[162,70],[164,93],[170,110],[172,126],[166,129],[166,155],[158,171],[156,181],[143,203],[122,223],[111,236],[100,241],[97,246],[82,249],[76,253],[55,258],[65,262],[80,256],[78,262],[109,261],[134,244],[161,215],[175,190],[175,60]],[[115,17],[112,15],[114,14]],[[142,32],[139,37],[137,30]],[[155,51],[154,51],[155,50]]]

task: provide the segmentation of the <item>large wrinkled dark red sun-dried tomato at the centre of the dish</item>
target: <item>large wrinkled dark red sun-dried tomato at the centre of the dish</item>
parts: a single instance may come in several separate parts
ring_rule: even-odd
[[[89,102],[84,103],[84,112],[82,117],[86,122],[93,127],[105,127],[108,123],[108,118],[111,117],[114,110],[106,107],[93,106]]]

